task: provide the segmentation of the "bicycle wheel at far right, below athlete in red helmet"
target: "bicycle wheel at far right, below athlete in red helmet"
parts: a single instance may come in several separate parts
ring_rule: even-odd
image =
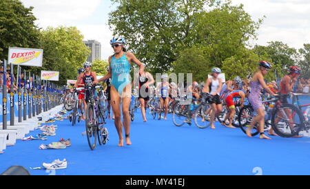
[[[281,137],[293,137],[304,128],[302,112],[291,104],[282,104],[271,112],[271,126]]]

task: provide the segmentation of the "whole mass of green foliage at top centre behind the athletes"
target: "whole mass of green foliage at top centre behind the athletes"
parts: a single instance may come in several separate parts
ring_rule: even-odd
[[[252,21],[242,5],[231,6],[231,1],[114,0],[114,3],[118,6],[110,13],[110,28],[114,34],[125,37],[130,50],[153,73],[169,72],[172,68],[180,72],[185,67],[197,68],[198,64],[221,67],[249,39],[256,38],[262,22]],[[201,54],[204,61],[192,61],[201,57],[196,58],[190,52],[194,50],[193,54],[199,55],[201,49],[208,51]],[[193,73],[199,74],[197,79],[202,77],[198,71]]]

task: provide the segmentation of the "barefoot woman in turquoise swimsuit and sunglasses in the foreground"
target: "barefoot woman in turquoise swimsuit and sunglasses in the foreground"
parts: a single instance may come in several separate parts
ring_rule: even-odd
[[[144,66],[132,52],[126,52],[124,45],[125,40],[121,37],[113,37],[110,45],[114,50],[114,55],[109,57],[109,72],[96,82],[105,81],[112,77],[111,81],[111,102],[114,113],[114,124],[118,133],[118,146],[124,146],[123,126],[125,128],[125,141],[131,145],[130,141],[130,101],[132,98],[132,83],[130,81],[130,66],[136,63],[139,67],[139,73],[143,74]],[[123,124],[121,122],[121,101],[123,112]]]

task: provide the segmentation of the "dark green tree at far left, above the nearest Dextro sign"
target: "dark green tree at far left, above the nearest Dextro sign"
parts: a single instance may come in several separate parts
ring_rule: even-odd
[[[19,0],[0,1],[0,59],[8,59],[9,47],[38,48],[39,30],[32,9]]]

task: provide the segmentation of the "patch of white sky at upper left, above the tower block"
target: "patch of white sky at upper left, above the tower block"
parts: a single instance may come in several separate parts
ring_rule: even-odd
[[[37,17],[37,24],[41,28],[48,26],[76,26],[84,35],[84,39],[95,39],[101,42],[101,58],[107,59],[112,50],[109,41],[112,32],[107,26],[107,15],[102,10],[99,17],[93,18],[96,8],[103,3],[103,0],[21,0],[26,7],[34,7],[34,15]],[[107,3],[107,0],[104,0]],[[108,4],[108,3],[107,3]],[[102,17],[102,18],[101,18]],[[92,19],[100,21],[94,24]],[[90,23],[92,22],[92,23]]]

